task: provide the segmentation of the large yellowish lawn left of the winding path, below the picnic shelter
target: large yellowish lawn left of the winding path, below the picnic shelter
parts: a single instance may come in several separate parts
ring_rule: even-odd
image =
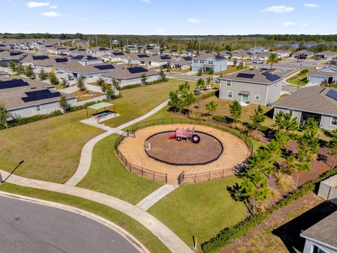
[[[103,133],[79,122],[86,111],[32,122],[0,131],[1,169],[30,179],[65,183],[74,174],[84,144]]]

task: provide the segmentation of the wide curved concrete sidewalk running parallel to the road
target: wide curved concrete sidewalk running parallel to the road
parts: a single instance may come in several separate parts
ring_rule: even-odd
[[[117,197],[112,197],[110,195],[79,188],[76,186],[67,186],[61,183],[26,179],[21,176],[9,174],[6,171],[0,170],[0,173],[8,183],[82,197],[86,200],[92,200],[100,204],[107,205],[108,207],[112,207],[113,209],[117,209],[118,211],[123,212],[145,226],[145,228],[156,235],[157,238],[159,238],[159,240],[161,240],[161,242],[163,242],[171,252],[193,252],[192,249],[190,249],[190,247],[188,247],[185,242],[183,242],[183,240],[178,237],[178,235],[173,233],[173,231],[167,228],[163,223],[161,223],[161,221],[156,219],[151,214],[148,214],[143,209],[140,209],[135,205],[131,205],[124,200],[119,200]]]

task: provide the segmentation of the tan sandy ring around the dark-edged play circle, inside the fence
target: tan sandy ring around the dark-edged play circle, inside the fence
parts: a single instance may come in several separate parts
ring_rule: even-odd
[[[206,165],[195,166],[176,166],[159,162],[149,157],[144,149],[144,143],[147,138],[153,134],[162,131],[175,131],[175,129],[192,129],[201,131],[211,136],[215,136],[223,145],[223,153],[218,157],[218,160]],[[171,140],[174,141],[174,140]],[[180,141],[181,142],[181,141]],[[200,141],[201,143],[201,141]],[[192,144],[191,144],[192,145]],[[194,145],[194,144],[193,144]],[[197,145],[197,144],[195,144]],[[165,124],[159,126],[150,126],[145,129],[136,131],[136,137],[128,137],[121,141],[119,151],[126,157],[128,162],[136,164],[145,169],[166,173],[169,184],[178,184],[178,175],[185,170],[185,174],[197,174],[208,171],[216,171],[220,169],[229,169],[239,164],[242,164],[249,155],[249,148],[241,138],[234,136],[226,131],[214,129],[210,126],[199,126],[193,124]],[[162,150],[165,155],[171,155],[169,150]],[[226,172],[227,176],[232,175],[232,171]]]

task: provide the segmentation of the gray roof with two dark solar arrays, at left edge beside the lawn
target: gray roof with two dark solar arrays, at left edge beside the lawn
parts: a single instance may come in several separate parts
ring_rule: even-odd
[[[53,85],[29,78],[20,77],[12,79],[9,77],[0,77],[0,101],[6,105],[7,110],[11,110],[28,105],[40,105],[41,103],[58,101],[61,95],[66,98],[74,98],[74,96],[70,94],[49,89],[51,86]],[[29,96],[29,92],[36,91],[46,91],[47,93],[53,93],[55,96],[51,96],[50,98],[46,96],[45,99],[38,100],[25,100],[25,98]],[[43,97],[44,96],[42,96],[42,98]]]

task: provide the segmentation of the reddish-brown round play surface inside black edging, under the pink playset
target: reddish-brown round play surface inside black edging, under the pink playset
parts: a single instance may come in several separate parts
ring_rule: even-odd
[[[199,143],[169,139],[176,131],[164,131],[147,138],[150,150],[147,155],[154,160],[177,166],[205,165],[217,160],[223,153],[223,145],[214,136],[201,131],[195,131],[200,137]]]

